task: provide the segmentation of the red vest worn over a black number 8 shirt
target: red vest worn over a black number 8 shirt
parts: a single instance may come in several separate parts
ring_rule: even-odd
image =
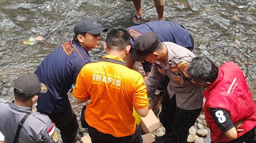
[[[207,126],[211,130],[213,142],[231,141],[214,122],[209,108],[222,108],[229,112],[233,123],[243,121],[237,137],[256,126],[256,105],[251,98],[246,79],[241,69],[234,63],[227,62],[219,68],[217,79],[204,90],[203,110]]]

